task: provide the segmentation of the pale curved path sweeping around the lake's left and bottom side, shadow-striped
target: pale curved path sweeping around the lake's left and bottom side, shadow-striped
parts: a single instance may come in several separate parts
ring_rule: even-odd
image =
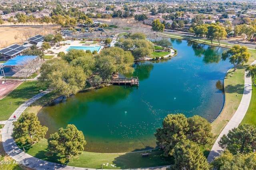
[[[21,150],[15,143],[14,139],[12,138],[12,131],[13,131],[13,125],[12,122],[15,121],[13,119],[13,116],[16,115],[16,118],[18,119],[20,115],[23,113],[23,111],[33,102],[44,96],[45,94],[48,94],[50,91],[46,90],[44,92],[41,92],[40,94],[37,94],[36,96],[32,97],[30,100],[24,102],[14,113],[10,116],[8,121],[6,121],[4,128],[2,129],[2,143],[5,152],[16,161],[16,164],[23,164],[25,166],[28,166],[30,168],[36,169],[36,170],[97,170],[93,168],[80,168],[80,167],[74,167],[74,166],[67,166],[62,164],[56,164],[53,162],[48,162],[46,160],[42,160],[39,158],[35,158],[31,156],[30,154],[27,154],[23,150]],[[100,165],[99,165],[100,166]],[[166,168],[169,166],[158,166],[158,167],[151,167],[151,168],[138,168],[143,170],[166,170]],[[136,169],[133,169],[136,170]]]

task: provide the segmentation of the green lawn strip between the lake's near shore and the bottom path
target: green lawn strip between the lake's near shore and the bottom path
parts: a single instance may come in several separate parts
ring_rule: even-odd
[[[19,145],[19,147],[23,146]],[[57,154],[51,157],[46,157],[44,155],[48,152],[46,139],[42,139],[32,147],[24,146],[24,148],[28,154],[50,162],[59,163],[56,160],[62,157]],[[149,156],[142,156],[142,153],[149,153]],[[154,149],[152,152],[142,151],[119,154],[83,152],[80,155],[72,156],[67,165],[85,168],[101,168],[101,164],[105,164],[105,166],[103,166],[104,169],[124,169],[164,166],[169,165],[170,163],[174,164],[171,157],[166,158],[162,156],[162,154],[163,151],[160,149]],[[107,163],[109,163],[108,166],[106,166]],[[113,164],[116,167],[110,166],[110,164]]]

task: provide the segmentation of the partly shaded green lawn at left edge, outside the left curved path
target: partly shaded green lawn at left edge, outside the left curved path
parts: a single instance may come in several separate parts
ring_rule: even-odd
[[[46,88],[38,87],[36,81],[23,82],[5,98],[0,100],[0,121],[8,120],[10,115],[24,102]],[[10,105],[10,102],[12,104]]]

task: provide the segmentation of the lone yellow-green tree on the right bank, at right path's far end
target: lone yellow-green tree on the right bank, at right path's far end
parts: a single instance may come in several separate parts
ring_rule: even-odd
[[[229,62],[231,64],[234,64],[234,71],[236,71],[236,67],[238,64],[244,64],[249,61],[251,54],[248,52],[248,48],[240,45],[234,45],[231,49],[228,51],[224,51],[222,53],[221,59],[225,61],[226,59],[229,59]]]

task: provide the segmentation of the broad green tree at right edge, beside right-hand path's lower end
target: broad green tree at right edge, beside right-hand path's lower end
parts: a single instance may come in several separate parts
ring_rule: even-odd
[[[254,152],[256,149],[256,127],[252,124],[240,124],[228,131],[218,142],[220,147],[232,154]]]

